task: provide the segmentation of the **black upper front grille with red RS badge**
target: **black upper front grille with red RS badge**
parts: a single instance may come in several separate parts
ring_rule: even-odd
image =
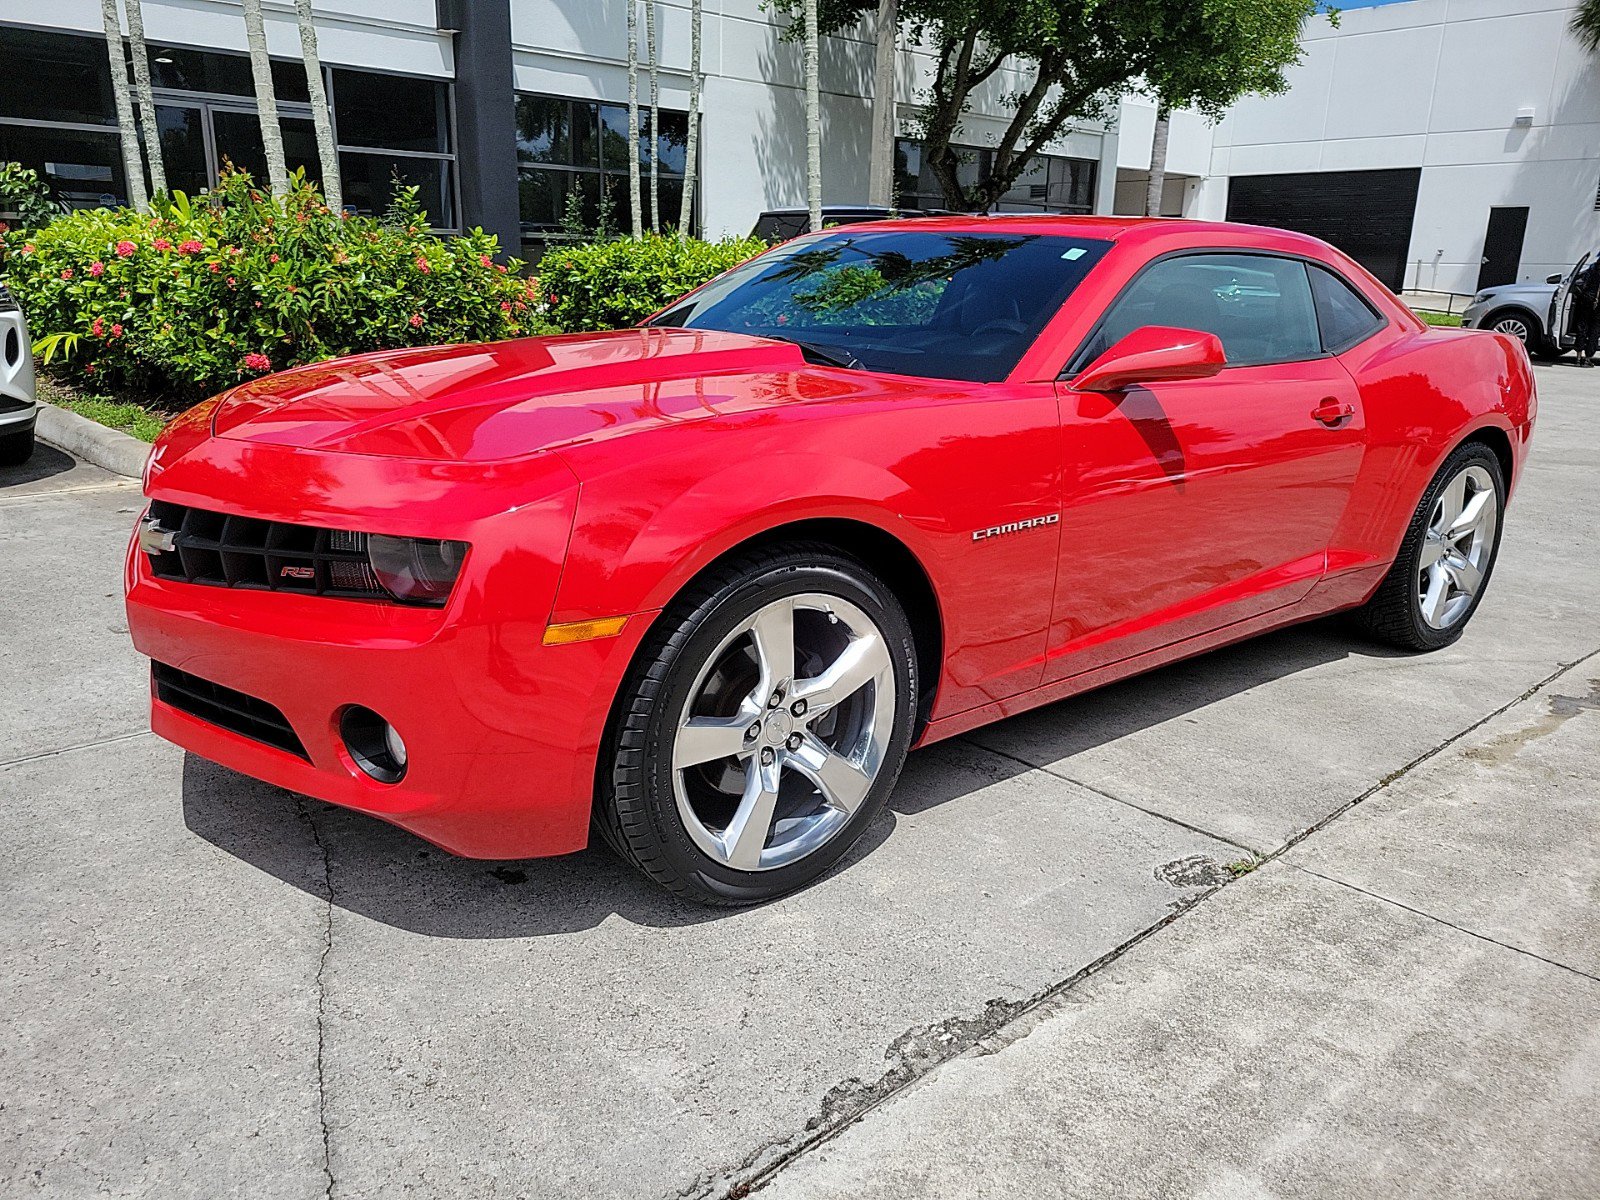
[[[150,517],[173,533],[173,549],[150,554],[162,579],[216,587],[389,600],[366,560],[366,534],[264,522],[154,501]]]

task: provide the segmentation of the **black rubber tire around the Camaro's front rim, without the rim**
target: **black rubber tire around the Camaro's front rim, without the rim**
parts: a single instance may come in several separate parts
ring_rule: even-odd
[[[862,610],[894,667],[894,722],[866,798],[827,842],[795,862],[738,870],[704,853],[674,792],[672,738],[707,659],[741,621],[787,595],[821,592]],[[758,904],[806,886],[872,824],[899,779],[917,714],[917,646],[894,592],[864,563],[829,546],[760,550],[696,579],[658,618],[618,696],[602,754],[595,827],[622,859],[667,891],[704,904]],[[610,771],[606,762],[610,760]]]

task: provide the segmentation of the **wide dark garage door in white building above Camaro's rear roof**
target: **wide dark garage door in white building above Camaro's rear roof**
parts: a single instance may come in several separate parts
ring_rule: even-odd
[[[1418,166],[1237,174],[1227,182],[1227,219],[1320,237],[1400,291],[1421,178]]]

